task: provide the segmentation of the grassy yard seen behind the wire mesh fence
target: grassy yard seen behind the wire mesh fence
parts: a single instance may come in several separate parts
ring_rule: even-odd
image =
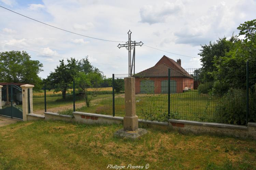
[[[67,94],[62,99],[61,93],[47,92],[47,111],[60,114],[72,114],[73,96]],[[195,121],[214,121],[214,111],[218,98],[200,95],[197,90],[181,94],[171,94],[171,118]],[[76,96],[76,111],[112,115],[112,91],[100,90],[96,97],[91,98],[89,107],[82,96]],[[166,121],[168,113],[167,94],[136,94],[137,115],[141,119]],[[43,114],[44,94],[33,94],[33,112]],[[115,116],[124,116],[124,94],[115,94]]]

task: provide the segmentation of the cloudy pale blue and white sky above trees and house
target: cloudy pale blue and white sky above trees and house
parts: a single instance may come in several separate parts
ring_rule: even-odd
[[[229,37],[240,23],[255,19],[255,0],[0,0],[0,5],[53,26],[87,36],[132,40],[173,53],[198,56],[201,44]],[[128,72],[128,52],[119,43],[100,41],[63,32],[0,8],[0,43],[62,57],[89,61],[107,77]],[[0,44],[0,52],[20,50]],[[27,51],[43,63],[46,78],[58,65],[59,57]],[[189,58],[154,50],[136,48],[136,72],[155,65],[166,55],[181,58],[183,68],[199,68],[199,58]],[[105,64],[105,65],[103,65]]]

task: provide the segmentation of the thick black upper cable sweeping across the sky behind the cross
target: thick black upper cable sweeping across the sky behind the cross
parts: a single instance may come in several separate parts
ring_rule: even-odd
[[[50,27],[53,27],[53,28],[56,28],[56,29],[59,29],[59,30],[62,30],[62,31],[66,31],[66,32],[69,32],[69,33],[72,33],[72,34],[81,35],[81,36],[84,36],[84,37],[87,37],[87,38],[93,38],[93,39],[98,39],[98,40],[103,40],[103,41],[110,41],[110,42],[116,42],[116,43],[124,43],[124,41],[113,41],[113,40],[108,40],[108,39],[101,39],[101,38],[90,37],[90,36],[82,35],[82,34],[79,34],[79,33],[74,33],[74,32],[72,32],[72,31],[68,31],[68,30],[65,30],[65,29],[61,29],[61,28],[52,26],[52,25],[50,25],[50,24],[41,22],[41,21],[39,21],[39,20],[30,18],[30,17],[28,17],[28,16],[22,15],[22,14],[20,14],[20,13],[17,13],[17,12],[15,12],[15,11],[12,11],[12,10],[10,10],[10,9],[8,9],[8,8],[5,8],[5,7],[1,6],[1,5],[0,5],[0,7],[4,8],[5,10],[11,11],[11,12],[13,12],[13,13],[15,13],[15,14],[18,14],[18,15],[21,15],[21,16],[23,16],[23,17],[29,18],[29,19],[31,19],[31,20],[37,21],[37,22],[39,22],[39,23],[42,23],[42,24],[45,24],[45,25],[47,25],[47,26],[50,26]],[[147,45],[145,45],[145,44],[143,44],[143,45],[146,46],[146,47],[149,47],[149,48],[152,48],[152,49],[155,49],[155,50],[159,50],[159,51],[163,51],[163,52],[167,52],[167,53],[170,53],[170,54],[175,54],[175,55],[180,55],[180,56],[185,56],[185,57],[190,57],[190,58],[199,58],[199,57],[192,57],[192,56],[188,56],[188,55],[182,55],[182,54],[172,53],[172,52],[165,51],[165,50],[160,50],[160,49],[157,49],[157,48],[154,48],[154,47],[147,46]],[[32,50],[30,50],[30,51],[32,51]]]

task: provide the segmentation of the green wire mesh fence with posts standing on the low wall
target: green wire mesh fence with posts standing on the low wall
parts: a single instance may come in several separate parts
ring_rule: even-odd
[[[247,124],[255,121],[256,68],[240,67],[205,72],[203,68],[161,70],[133,75],[136,79],[136,112],[139,118]],[[125,115],[124,78],[113,74],[104,86],[81,89],[75,82],[65,90],[33,92],[33,112],[72,114],[73,111]],[[239,115],[236,115],[238,114]],[[251,115],[250,115],[250,114]],[[256,117],[256,116],[255,116]]]

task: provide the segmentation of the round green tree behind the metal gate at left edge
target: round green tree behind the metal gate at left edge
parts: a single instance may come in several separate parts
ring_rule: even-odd
[[[0,82],[34,84],[34,89],[41,89],[38,76],[43,64],[31,60],[26,51],[6,51],[0,53]]]

